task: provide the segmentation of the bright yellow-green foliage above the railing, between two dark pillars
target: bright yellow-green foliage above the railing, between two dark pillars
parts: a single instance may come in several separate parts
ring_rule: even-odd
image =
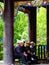
[[[46,9],[41,7],[37,13],[37,44],[46,44]]]

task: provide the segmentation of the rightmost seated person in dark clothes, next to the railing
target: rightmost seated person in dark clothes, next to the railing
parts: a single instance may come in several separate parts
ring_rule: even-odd
[[[30,49],[31,49],[31,63],[38,64],[38,58],[35,55],[36,46],[35,46],[35,43],[33,41],[30,42]]]

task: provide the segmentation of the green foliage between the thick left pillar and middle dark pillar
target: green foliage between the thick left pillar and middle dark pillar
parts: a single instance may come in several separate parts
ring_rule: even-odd
[[[20,39],[27,39],[28,17],[23,12],[18,12],[14,23],[14,43]]]

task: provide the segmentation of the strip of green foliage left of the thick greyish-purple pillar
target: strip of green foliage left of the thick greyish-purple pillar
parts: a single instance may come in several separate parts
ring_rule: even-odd
[[[0,18],[0,60],[3,59],[3,32],[4,31],[4,23]]]

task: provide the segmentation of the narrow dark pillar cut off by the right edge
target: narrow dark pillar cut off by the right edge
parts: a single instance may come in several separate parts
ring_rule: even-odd
[[[48,62],[49,62],[49,6],[47,6],[47,52],[48,52]]]

